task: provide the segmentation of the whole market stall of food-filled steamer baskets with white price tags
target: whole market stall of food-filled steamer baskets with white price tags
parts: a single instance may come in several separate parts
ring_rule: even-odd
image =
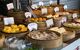
[[[80,38],[80,10],[69,10],[59,0],[31,2],[25,11],[19,2],[17,8],[9,3],[8,16],[0,15],[2,50],[64,50]]]

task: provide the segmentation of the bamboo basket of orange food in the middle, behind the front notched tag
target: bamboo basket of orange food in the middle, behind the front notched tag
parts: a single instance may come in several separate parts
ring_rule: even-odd
[[[25,20],[25,25],[28,25],[29,23],[37,23],[38,24],[38,30],[46,30],[46,21],[47,18],[43,17],[36,17],[36,18],[28,18]]]

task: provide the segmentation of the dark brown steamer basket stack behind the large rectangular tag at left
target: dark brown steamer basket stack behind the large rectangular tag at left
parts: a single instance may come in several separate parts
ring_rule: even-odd
[[[24,12],[20,10],[16,10],[16,11],[11,10],[8,12],[8,15],[14,17],[14,21],[16,23],[23,23],[23,20],[25,19]]]

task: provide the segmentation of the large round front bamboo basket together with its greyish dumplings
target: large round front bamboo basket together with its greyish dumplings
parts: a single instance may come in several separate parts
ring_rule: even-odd
[[[40,33],[41,32],[41,33]],[[50,39],[50,37],[46,37],[45,32],[48,34],[48,36],[50,34],[55,34],[55,37],[51,37],[52,39]],[[39,33],[39,34],[38,34]],[[31,35],[33,34],[33,35]],[[43,37],[44,34],[45,36]],[[34,37],[35,35],[35,37]],[[38,36],[39,35],[39,36]],[[60,50],[63,46],[63,40],[62,40],[62,35],[58,32],[55,31],[50,31],[50,30],[46,30],[46,31],[32,31],[28,34],[28,40],[32,43],[32,45],[34,47],[37,48],[43,48],[44,50]]]

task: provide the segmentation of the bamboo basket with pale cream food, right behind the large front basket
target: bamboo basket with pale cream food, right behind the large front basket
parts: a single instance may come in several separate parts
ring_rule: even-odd
[[[64,27],[60,27],[60,28],[53,27],[53,28],[50,28],[49,30],[61,33],[63,36],[64,42],[75,38],[75,34],[76,34],[75,31],[66,30]]]

